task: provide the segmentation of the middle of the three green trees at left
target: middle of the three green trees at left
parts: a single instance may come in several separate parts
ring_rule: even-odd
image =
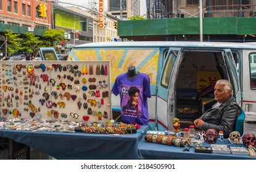
[[[22,45],[25,53],[33,53],[43,44],[43,41],[39,40],[40,37],[36,37],[33,33],[25,33],[24,36]]]

